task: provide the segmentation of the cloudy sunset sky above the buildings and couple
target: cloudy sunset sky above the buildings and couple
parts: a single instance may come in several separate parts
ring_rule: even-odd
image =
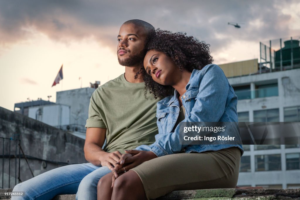
[[[0,0],[0,106],[124,73],[116,57],[129,19],[184,31],[211,45],[216,64],[259,58],[259,41],[300,36],[298,0]],[[238,22],[241,28],[228,25]],[[61,66],[64,79],[51,85]]]

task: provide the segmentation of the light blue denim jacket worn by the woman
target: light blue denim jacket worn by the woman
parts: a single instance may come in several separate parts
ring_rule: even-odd
[[[194,69],[185,88],[186,92],[181,97],[185,108],[183,122],[238,121],[237,96],[219,66],[209,64],[202,70]],[[137,150],[152,151],[160,157],[180,153],[182,150],[190,153],[238,147],[243,154],[242,145],[232,145],[230,141],[224,141],[220,145],[180,145],[179,126],[172,132],[180,110],[177,97],[178,93],[175,90],[174,96],[166,97],[157,103],[158,134],[155,136],[156,141],[149,146],[138,146]]]

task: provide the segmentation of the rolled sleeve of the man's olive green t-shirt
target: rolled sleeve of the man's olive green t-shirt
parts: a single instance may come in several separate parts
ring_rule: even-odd
[[[94,92],[90,99],[90,105],[88,107],[88,119],[86,120],[86,128],[107,128],[103,119],[104,113],[101,110],[101,105],[97,104],[97,94]]]

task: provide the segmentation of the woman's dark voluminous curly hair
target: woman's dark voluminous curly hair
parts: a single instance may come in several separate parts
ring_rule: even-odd
[[[164,52],[171,57],[180,71],[192,72],[193,69],[202,69],[205,65],[212,63],[213,58],[210,55],[209,46],[204,41],[187,36],[186,33],[172,33],[158,28],[149,39],[146,52],[152,49]],[[153,93],[155,99],[174,94],[172,86],[155,82],[144,67],[140,69],[139,73],[143,74],[146,92],[149,90],[149,93]]]

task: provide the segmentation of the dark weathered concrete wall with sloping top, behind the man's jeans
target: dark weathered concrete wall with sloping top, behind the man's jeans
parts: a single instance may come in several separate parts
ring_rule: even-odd
[[[27,160],[35,176],[67,164],[87,163],[83,151],[84,139],[2,107],[0,107],[0,137],[10,138],[4,140],[5,155],[15,156],[16,154],[18,156],[19,151],[15,152],[15,148],[18,147],[19,142],[15,142],[16,139],[21,140],[20,145],[24,154],[29,156]],[[9,142],[11,143],[10,149]],[[1,139],[1,148],[2,144]],[[11,159],[9,168],[8,160],[8,157],[4,158],[3,186],[14,187],[15,171],[18,177],[19,162],[18,159]],[[15,164],[17,170],[15,170]],[[0,159],[0,166],[2,166],[2,159]],[[25,159],[21,158],[20,180],[22,182],[32,178],[29,166]],[[8,176],[9,169],[10,177]],[[10,185],[8,184],[9,178]],[[2,173],[0,173],[0,186],[2,187]]]

